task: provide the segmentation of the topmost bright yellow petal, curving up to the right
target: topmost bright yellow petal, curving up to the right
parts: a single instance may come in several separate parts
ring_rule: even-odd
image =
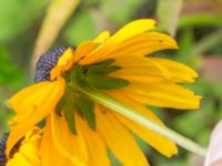
[[[111,37],[107,42],[104,42],[97,50],[91,52],[87,56],[87,59],[80,61],[80,63],[89,64],[98,60],[103,60],[112,50],[117,49],[117,46],[121,42],[124,42],[125,40],[137,34],[154,29],[155,28],[154,24],[155,21],[151,19],[141,19],[128,23],[122,29],[120,29],[115,34],[113,34],[113,37]]]

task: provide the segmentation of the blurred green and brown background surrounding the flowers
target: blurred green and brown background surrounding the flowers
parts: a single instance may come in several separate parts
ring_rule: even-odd
[[[33,83],[31,62],[40,53],[54,45],[78,45],[101,30],[114,32],[140,18],[157,19],[159,31],[174,35],[178,51],[153,55],[195,69],[200,77],[188,86],[203,95],[199,111],[153,111],[168,126],[206,147],[212,128],[222,118],[221,0],[1,0],[0,135],[8,131],[11,116],[6,100]],[[202,165],[202,158],[182,148],[178,156],[168,159],[138,141],[151,165]],[[113,165],[119,165],[111,158]]]

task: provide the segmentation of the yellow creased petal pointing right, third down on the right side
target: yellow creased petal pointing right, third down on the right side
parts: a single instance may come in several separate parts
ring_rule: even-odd
[[[150,77],[155,76],[160,77],[161,80],[161,76],[164,76],[162,82],[164,82],[164,79],[167,79],[168,81],[170,80],[176,83],[192,83],[198,77],[198,73],[191,68],[179,62],[160,58],[120,56],[115,59],[114,64],[121,66],[122,70],[111,73],[111,75],[123,76],[124,79],[127,79],[127,76],[132,79],[134,74],[135,79],[138,76],[144,76],[145,80],[149,80]],[[142,82],[149,83],[149,81],[141,79]]]

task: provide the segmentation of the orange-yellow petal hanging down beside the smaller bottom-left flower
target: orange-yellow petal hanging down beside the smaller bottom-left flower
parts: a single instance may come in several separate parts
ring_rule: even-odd
[[[50,118],[47,121],[43,138],[41,142],[41,162],[42,166],[72,166],[73,163],[67,156],[62,155],[52,142],[51,135],[51,122]],[[79,160],[80,163],[80,160]]]

